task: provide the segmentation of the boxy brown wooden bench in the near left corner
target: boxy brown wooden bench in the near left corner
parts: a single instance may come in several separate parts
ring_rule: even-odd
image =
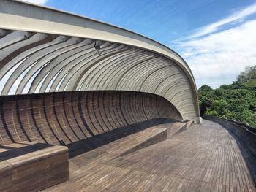
[[[69,179],[68,149],[37,142],[0,146],[0,191],[40,191]]]

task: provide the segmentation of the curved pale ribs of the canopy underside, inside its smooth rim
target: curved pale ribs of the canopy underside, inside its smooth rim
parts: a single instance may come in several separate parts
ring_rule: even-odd
[[[191,85],[170,59],[139,47],[0,29],[1,95],[122,90],[154,93],[184,120],[196,117]]]

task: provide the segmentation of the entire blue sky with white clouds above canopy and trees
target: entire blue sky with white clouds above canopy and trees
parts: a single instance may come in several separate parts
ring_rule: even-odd
[[[176,50],[217,88],[256,64],[256,1],[27,0],[127,28]]]

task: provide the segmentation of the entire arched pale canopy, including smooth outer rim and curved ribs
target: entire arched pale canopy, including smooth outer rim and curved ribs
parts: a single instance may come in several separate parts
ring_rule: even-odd
[[[169,47],[124,28],[20,1],[0,2],[1,95],[118,90],[154,93],[200,117],[195,80]]]

